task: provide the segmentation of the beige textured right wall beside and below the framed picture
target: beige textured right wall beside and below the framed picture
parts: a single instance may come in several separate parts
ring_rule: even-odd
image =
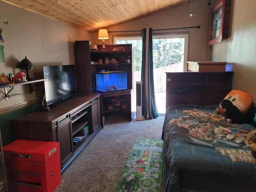
[[[226,61],[234,71],[233,89],[256,101],[256,1],[231,0],[229,37],[212,46],[212,60]]]

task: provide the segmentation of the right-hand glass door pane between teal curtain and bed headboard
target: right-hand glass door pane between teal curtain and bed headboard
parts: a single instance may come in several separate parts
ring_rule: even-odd
[[[159,115],[166,110],[166,72],[186,71],[187,34],[153,35],[154,88]]]

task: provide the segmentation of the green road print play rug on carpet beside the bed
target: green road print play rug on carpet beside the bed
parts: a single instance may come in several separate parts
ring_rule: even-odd
[[[162,140],[137,139],[114,192],[160,192]]]

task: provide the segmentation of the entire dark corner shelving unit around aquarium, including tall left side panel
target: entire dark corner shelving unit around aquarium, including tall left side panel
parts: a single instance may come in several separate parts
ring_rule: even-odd
[[[98,50],[90,50],[89,41],[76,41],[76,75],[78,82],[79,94],[97,93],[101,94],[101,116],[104,114],[120,114],[127,115],[129,120],[132,120],[131,112],[131,91],[132,90],[132,63],[126,62],[128,56],[132,58],[132,45],[131,44],[113,44],[105,45],[106,48],[102,51],[102,45],[97,45]],[[114,51],[118,50],[118,51]],[[119,61],[117,64],[108,63],[104,61],[108,57],[109,60],[116,59]],[[99,60],[102,64],[96,64]],[[94,64],[91,64],[94,62]],[[124,71],[127,73],[127,90],[116,90],[110,92],[99,92],[96,90],[96,73],[104,71]],[[85,71],[90,72],[90,76],[85,76]],[[86,73],[87,74],[87,73]],[[112,111],[105,109],[105,101],[111,97],[120,97],[126,100],[128,108],[121,109],[116,107]],[[103,124],[103,123],[102,123]]]

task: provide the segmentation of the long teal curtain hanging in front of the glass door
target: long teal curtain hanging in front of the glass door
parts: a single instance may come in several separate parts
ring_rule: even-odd
[[[153,75],[153,43],[152,28],[142,30],[142,115],[154,119],[159,116],[156,108],[156,98]]]

